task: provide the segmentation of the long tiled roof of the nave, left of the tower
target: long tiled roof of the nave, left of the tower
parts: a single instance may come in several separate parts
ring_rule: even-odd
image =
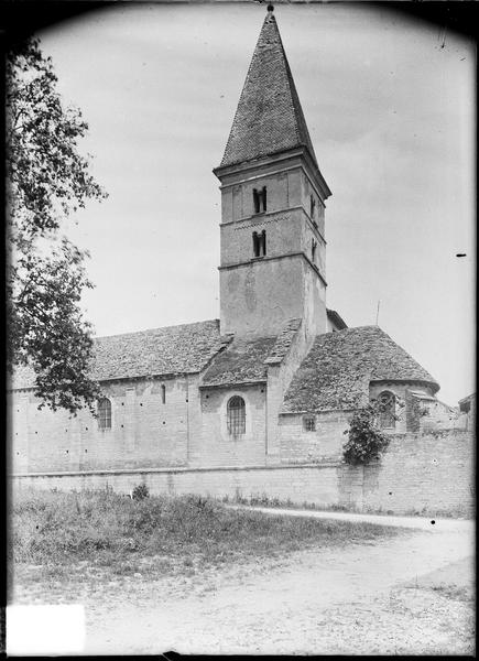
[[[94,345],[91,376],[105,381],[195,373],[230,340],[230,337],[220,336],[218,319],[98,337]],[[33,370],[19,368],[12,387],[32,388],[34,379]]]

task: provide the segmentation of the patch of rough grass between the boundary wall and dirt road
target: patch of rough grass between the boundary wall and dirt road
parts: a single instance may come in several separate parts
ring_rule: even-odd
[[[91,565],[116,575],[144,573],[153,557],[151,571],[188,573],[394,534],[370,523],[233,510],[193,495],[135,501],[111,491],[29,490],[12,502],[9,560],[51,579]]]

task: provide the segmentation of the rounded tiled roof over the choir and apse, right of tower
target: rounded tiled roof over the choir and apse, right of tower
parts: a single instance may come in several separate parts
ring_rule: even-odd
[[[369,397],[370,381],[413,381],[439,386],[378,326],[319,335],[295,373],[283,413],[353,409]]]

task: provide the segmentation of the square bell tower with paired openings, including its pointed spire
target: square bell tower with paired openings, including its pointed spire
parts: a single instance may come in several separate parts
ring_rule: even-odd
[[[325,201],[331,194],[268,7],[221,164],[221,333],[326,332]]]

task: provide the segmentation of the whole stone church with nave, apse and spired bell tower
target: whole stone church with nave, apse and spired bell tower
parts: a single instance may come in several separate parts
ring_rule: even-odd
[[[381,328],[349,328],[327,307],[331,192],[271,7],[214,173],[220,318],[97,338],[98,418],[39,410],[34,376],[19,370],[14,475],[327,464],[340,459],[351,413],[371,399],[384,402],[391,434],[417,432],[421,411],[438,404],[435,379]]]

